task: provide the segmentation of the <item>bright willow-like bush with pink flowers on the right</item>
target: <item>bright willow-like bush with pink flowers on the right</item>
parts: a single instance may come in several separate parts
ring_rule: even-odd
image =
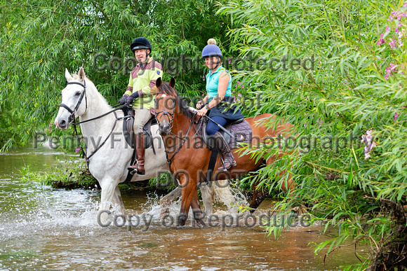
[[[318,244],[316,251],[329,245],[329,253],[352,239],[368,244],[374,257],[394,233],[400,233],[399,227],[406,227],[394,206],[403,209],[406,204],[407,39],[403,32],[399,46],[396,27],[401,31],[407,22],[403,16],[387,21],[392,11],[406,11],[398,5],[398,1],[244,0],[220,8],[220,14],[231,15],[242,25],[232,27],[229,37],[243,60],[260,65],[273,57],[288,59],[286,70],[281,61],[266,69],[235,67],[234,78],[251,85],[245,91],[252,97],[262,92],[260,106],[251,114],[275,113],[295,125],[297,148],[250,180],[259,188],[272,189],[293,176],[295,191],[275,210],[283,216],[298,204],[314,203],[313,223],[321,221],[325,229],[338,227],[338,237]],[[385,44],[378,46],[380,34]],[[390,48],[392,36],[395,48]],[[293,62],[306,57],[307,69]],[[314,67],[309,69],[312,57]],[[366,131],[377,145],[370,152],[364,151],[366,139],[361,142]],[[283,147],[291,145],[288,142],[292,141],[283,141]],[[257,158],[283,150],[274,144],[271,149],[245,152]],[[283,170],[286,173],[279,176]],[[268,230],[278,235],[281,227]],[[369,263],[366,259],[359,268]]]

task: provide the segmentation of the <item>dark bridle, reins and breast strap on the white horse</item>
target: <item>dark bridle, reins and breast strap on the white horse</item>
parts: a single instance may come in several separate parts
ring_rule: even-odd
[[[76,119],[76,117],[75,117],[75,111],[77,111],[77,110],[79,109],[79,106],[81,105],[81,102],[82,102],[82,100],[84,99],[84,97],[85,97],[85,102],[86,102],[85,113],[88,111],[88,97],[86,96],[86,81],[84,81],[83,84],[82,84],[82,83],[79,83],[79,82],[68,82],[68,83],[67,83],[67,85],[74,85],[74,84],[76,84],[76,85],[81,85],[81,87],[84,88],[84,91],[81,93],[81,97],[79,97],[79,100],[78,100],[78,102],[77,102],[77,104],[76,104],[74,110],[72,110],[72,109],[71,109],[69,106],[67,106],[66,104],[60,104],[60,107],[63,107],[63,108],[65,108],[65,109],[67,109],[67,111],[69,111],[69,113],[71,113],[71,116],[69,116],[69,123],[72,123],[72,126],[74,127],[74,132],[72,133],[73,137],[76,137],[76,138],[79,138],[79,137],[80,137],[80,136],[79,136],[79,133],[78,133],[78,130],[76,129],[76,126],[79,125],[79,124],[81,124],[81,123],[88,123],[88,122],[91,121],[91,120],[97,120],[98,118],[103,118],[103,117],[109,115],[110,113],[114,113],[114,118],[116,118],[116,119],[114,120],[114,125],[113,125],[113,127],[112,127],[112,130],[111,130],[111,131],[109,132],[109,134],[107,135],[105,141],[103,141],[102,144],[100,144],[100,145],[98,146],[98,148],[96,148],[95,151],[93,151],[93,153],[91,153],[91,155],[86,156],[86,150],[84,149],[84,147],[82,147],[82,144],[79,143],[79,147],[81,148],[81,152],[82,152],[82,158],[85,158],[86,164],[87,164],[88,167],[89,167],[89,159],[90,159],[97,151],[99,151],[99,149],[102,148],[103,145],[105,145],[107,139],[109,139],[109,137],[112,135],[112,132],[114,131],[114,128],[116,127],[117,120],[122,119],[122,118],[117,118],[117,114],[116,114],[115,111],[124,108],[124,106],[126,106],[126,104],[124,104],[123,106],[120,106],[119,104],[116,104],[116,105],[113,106],[113,107],[117,107],[117,106],[119,106],[119,107],[117,107],[116,109],[113,109],[113,110],[111,110],[111,111],[108,111],[107,113],[104,113],[104,114],[102,114],[102,115],[100,115],[100,116],[97,116],[97,117],[95,117],[95,118],[90,118],[90,119],[88,119],[88,120],[79,121],[79,122],[74,122],[74,120]],[[85,142],[85,148],[87,148],[86,142]]]

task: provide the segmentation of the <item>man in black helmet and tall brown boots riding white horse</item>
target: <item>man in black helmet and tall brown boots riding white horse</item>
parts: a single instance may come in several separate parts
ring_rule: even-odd
[[[148,39],[140,36],[131,43],[130,49],[133,51],[138,64],[133,68],[128,80],[128,87],[119,104],[131,104],[135,111],[133,130],[135,134],[135,148],[137,152],[137,164],[130,165],[128,170],[145,174],[144,168],[144,134],[142,127],[154,116],[154,89],[156,79],[163,75],[163,68],[149,56],[152,46]]]

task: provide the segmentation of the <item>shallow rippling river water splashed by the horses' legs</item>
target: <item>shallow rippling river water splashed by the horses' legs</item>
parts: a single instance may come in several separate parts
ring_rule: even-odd
[[[278,239],[259,227],[184,228],[159,220],[159,196],[124,192],[126,210],[150,218],[129,228],[96,222],[99,190],[65,190],[22,182],[19,169],[42,171],[61,153],[21,149],[0,154],[0,270],[340,270],[357,263],[354,247],[314,255],[309,242],[335,235],[319,226],[291,228]],[[265,201],[260,209],[267,209]],[[171,214],[178,214],[180,202]],[[215,210],[225,212],[216,205]],[[363,250],[362,250],[363,251]],[[360,252],[360,251],[359,251]],[[363,252],[362,252],[363,253]]]

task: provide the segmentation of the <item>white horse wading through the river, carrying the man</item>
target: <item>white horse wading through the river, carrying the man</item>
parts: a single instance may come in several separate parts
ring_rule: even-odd
[[[67,130],[72,121],[72,113],[75,118],[79,117],[82,135],[87,142],[86,153],[88,156],[93,153],[88,159],[89,171],[102,188],[99,211],[118,206],[121,214],[126,214],[117,186],[125,181],[128,174],[127,167],[130,165],[133,155],[133,149],[128,146],[123,136],[123,120],[120,118],[124,116],[124,113],[121,110],[108,113],[112,111],[112,106],[107,104],[106,99],[98,92],[92,81],[86,78],[83,68],[79,69],[79,73],[74,74],[73,77],[65,69],[65,78],[67,78],[68,85],[62,90],[62,104],[58,116],[55,118],[55,125],[58,129]],[[105,113],[108,114],[102,116]],[[98,116],[102,116],[102,118],[97,118]],[[93,118],[96,119],[91,120]],[[82,123],[86,120],[89,121]],[[151,130],[156,154],[154,155],[152,148],[145,150],[146,173],[145,175],[134,174],[131,181],[151,179],[168,171],[164,142],[157,132],[158,125],[152,125]],[[105,144],[102,145],[104,141]],[[100,145],[102,146],[100,147]],[[228,207],[235,203],[229,186],[225,186],[225,183],[221,184],[218,187],[212,186],[212,188],[216,188],[216,192],[209,186],[201,186],[206,215],[213,213],[212,204],[215,193]],[[181,188],[178,187],[161,199],[160,204],[163,208],[161,216],[168,214],[168,205],[180,195]]]

